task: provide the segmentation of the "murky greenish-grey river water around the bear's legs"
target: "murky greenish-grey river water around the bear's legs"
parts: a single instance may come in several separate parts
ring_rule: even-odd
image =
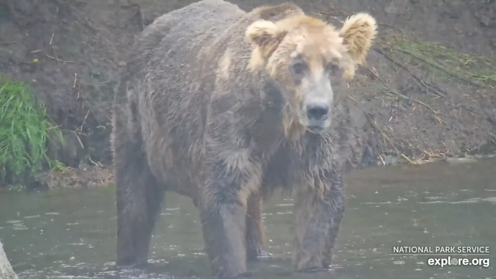
[[[493,267],[430,267],[427,256],[391,256],[393,246],[490,246],[496,263],[496,160],[367,169],[348,176],[348,207],[338,236],[338,279],[496,278]],[[0,193],[0,237],[24,279],[209,278],[196,209],[169,194],[146,271],[114,270],[113,188]],[[265,207],[270,259],[249,266],[260,279],[319,279],[293,274],[293,200]],[[461,256],[463,257],[463,256]],[[481,256],[483,257],[483,256]]]

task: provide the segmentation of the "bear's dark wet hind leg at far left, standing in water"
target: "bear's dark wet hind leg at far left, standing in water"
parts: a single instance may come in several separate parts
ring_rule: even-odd
[[[113,151],[117,187],[117,261],[118,266],[147,263],[155,221],[164,200],[166,187],[159,183],[148,165],[141,131],[130,129],[127,118],[139,127],[137,112],[126,116],[121,107],[114,109]],[[131,127],[133,128],[133,127]]]

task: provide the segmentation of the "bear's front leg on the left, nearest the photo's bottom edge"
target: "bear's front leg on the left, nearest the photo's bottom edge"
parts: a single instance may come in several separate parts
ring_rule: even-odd
[[[224,153],[227,155],[227,153]],[[254,164],[233,151],[206,163],[208,173],[200,195],[200,219],[212,274],[233,278],[246,273],[247,200],[259,183]],[[220,155],[222,156],[222,154]]]

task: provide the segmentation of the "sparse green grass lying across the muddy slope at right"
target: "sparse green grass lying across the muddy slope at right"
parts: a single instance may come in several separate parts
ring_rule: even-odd
[[[496,87],[496,56],[464,54],[438,43],[415,42],[407,39],[397,41],[393,49],[450,75],[492,88]]]

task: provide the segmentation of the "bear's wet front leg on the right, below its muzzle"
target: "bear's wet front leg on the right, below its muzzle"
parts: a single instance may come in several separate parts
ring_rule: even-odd
[[[345,209],[341,174],[318,172],[296,203],[296,271],[328,269]],[[310,176],[308,176],[310,177]]]

